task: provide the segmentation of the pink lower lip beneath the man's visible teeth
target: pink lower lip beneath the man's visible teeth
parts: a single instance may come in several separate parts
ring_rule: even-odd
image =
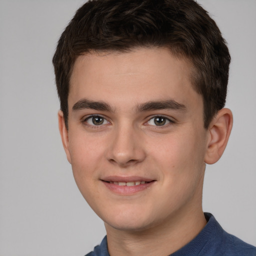
[[[109,190],[121,195],[131,195],[131,194],[143,191],[154,183],[154,181],[150,181],[148,183],[134,185],[134,186],[119,186],[114,183],[108,183],[106,181],[102,181],[102,182]]]

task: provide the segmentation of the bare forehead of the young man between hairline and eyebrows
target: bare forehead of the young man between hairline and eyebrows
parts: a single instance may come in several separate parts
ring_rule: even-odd
[[[201,97],[192,88],[191,70],[190,61],[166,48],[80,55],[70,78],[68,105],[82,97],[122,105],[166,97],[189,103],[189,98]]]

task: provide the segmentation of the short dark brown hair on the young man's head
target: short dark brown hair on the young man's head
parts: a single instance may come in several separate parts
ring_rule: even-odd
[[[69,80],[77,56],[135,47],[167,47],[192,62],[191,82],[202,95],[207,128],[225,104],[230,55],[214,20],[193,0],[89,0],[83,4],[61,34],[52,59],[66,127]]]

